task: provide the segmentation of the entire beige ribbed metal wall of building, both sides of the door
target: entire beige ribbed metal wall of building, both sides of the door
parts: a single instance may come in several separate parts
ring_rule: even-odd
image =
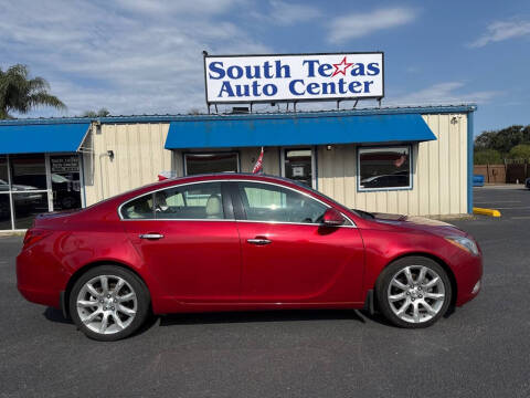
[[[437,139],[412,146],[412,189],[358,192],[354,145],[317,148],[318,189],[348,207],[368,211],[431,216],[467,212],[467,116],[423,117]],[[118,124],[102,125],[97,134],[93,127],[85,146],[93,139],[94,154],[84,155],[86,203],[153,182],[161,170],[176,170],[182,176],[182,153],[163,149],[168,129],[169,124]],[[105,156],[107,150],[114,150],[113,161]],[[241,171],[252,171],[259,148],[234,150],[240,154]],[[279,154],[277,147],[265,148],[265,174],[280,174]]]

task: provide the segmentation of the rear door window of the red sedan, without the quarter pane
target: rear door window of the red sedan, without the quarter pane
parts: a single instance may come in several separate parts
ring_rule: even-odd
[[[192,184],[155,192],[156,219],[224,219],[221,182]]]

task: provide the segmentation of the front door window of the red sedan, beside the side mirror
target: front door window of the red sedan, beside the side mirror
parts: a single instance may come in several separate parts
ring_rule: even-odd
[[[247,220],[320,223],[327,209],[306,195],[278,186],[240,182],[239,187]]]

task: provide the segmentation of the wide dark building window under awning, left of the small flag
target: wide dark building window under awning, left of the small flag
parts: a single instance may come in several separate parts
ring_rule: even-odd
[[[210,172],[237,172],[240,159],[237,153],[184,154],[187,176]]]

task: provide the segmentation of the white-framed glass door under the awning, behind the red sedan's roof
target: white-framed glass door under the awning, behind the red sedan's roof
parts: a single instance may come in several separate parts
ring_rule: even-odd
[[[315,151],[312,148],[282,149],[282,176],[316,189]]]

